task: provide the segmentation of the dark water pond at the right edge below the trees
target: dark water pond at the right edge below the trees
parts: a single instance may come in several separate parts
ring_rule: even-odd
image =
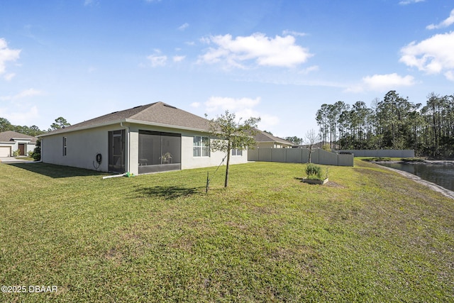
[[[452,164],[407,164],[407,163],[386,163],[380,165],[392,167],[404,172],[410,172],[423,180],[433,182],[454,191],[454,165]]]

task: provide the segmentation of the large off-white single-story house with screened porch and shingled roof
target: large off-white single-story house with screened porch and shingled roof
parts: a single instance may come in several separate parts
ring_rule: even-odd
[[[209,121],[162,102],[116,111],[38,136],[45,163],[135,175],[210,167],[224,153],[211,152]],[[231,164],[248,162],[232,150]]]

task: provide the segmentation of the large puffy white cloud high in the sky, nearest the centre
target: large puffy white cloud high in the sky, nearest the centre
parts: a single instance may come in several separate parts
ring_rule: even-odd
[[[246,37],[232,38],[227,34],[202,38],[201,42],[214,47],[201,55],[199,62],[223,62],[227,67],[245,68],[243,62],[250,60],[260,66],[294,67],[312,56],[309,50],[295,44],[292,35],[269,38],[265,34],[254,33]]]

